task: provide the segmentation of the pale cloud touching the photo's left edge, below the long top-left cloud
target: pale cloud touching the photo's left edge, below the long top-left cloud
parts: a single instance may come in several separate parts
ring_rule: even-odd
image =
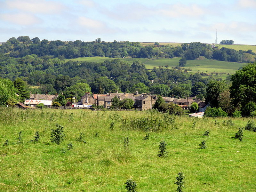
[[[41,23],[41,19],[27,13],[3,13],[0,14],[0,19],[18,25],[34,25]]]

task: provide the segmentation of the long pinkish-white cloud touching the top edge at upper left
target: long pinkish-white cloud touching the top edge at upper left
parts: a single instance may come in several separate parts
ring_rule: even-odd
[[[56,14],[65,9],[65,6],[63,4],[55,1],[46,0],[8,0],[6,1],[6,6],[9,9],[47,14]]]

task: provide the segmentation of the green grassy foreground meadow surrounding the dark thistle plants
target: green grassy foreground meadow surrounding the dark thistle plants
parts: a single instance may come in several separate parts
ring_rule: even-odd
[[[185,175],[184,192],[256,188],[256,133],[244,130],[242,142],[233,138],[246,118],[229,118],[234,125],[227,126],[222,122],[228,118],[156,111],[17,108],[0,108],[0,117],[0,191],[124,192],[124,183],[132,178],[138,192],[166,192],[176,190],[178,172]],[[129,125],[128,117],[130,122],[145,121]],[[159,125],[151,126],[147,119]],[[60,145],[50,142],[55,124],[62,125],[66,135]],[[203,136],[206,130],[209,136]],[[17,144],[20,131],[22,142]],[[36,131],[40,139],[31,142]],[[86,143],[76,140],[80,132]],[[149,139],[143,140],[148,132]],[[128,147],[124,137],[130,139]],[[9,144],[3,146],[6,140]],[[199,148],[202,140],[205,149]],[[157,156],[160,141],[167,143],[167,157]]]

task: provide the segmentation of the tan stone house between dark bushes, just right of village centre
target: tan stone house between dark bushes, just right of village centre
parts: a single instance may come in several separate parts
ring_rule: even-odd
[[[156,99],[156,95],[141,95],[135,99],[135,106],[137,109],[148,110],[154,106]]]

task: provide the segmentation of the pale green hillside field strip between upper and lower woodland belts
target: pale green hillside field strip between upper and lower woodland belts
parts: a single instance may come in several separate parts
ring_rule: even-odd
[[[159,66],[168,65],[168,68],[179,65],[180,58],[162,58],[162,59],[142,59],[142,58],[121,58],[121,60],[125,61],[134,61],[139,59],[141,63],[144,63],[147,69],[153,69],[154,67],[158,68]],[[105,60],[114,60],[114,58],[109,57],[82,57],[78,59],[70,59],[72,61],[94,61],[94,62],[103,62]],[[68,61],[68,60],[66,60]],[[184,68],[191,68],[192,73],[195,72],[206,72],[210,73],[230,73],[233,74],[235,71],[241,66],[245,65],[245,63],[237,63],[237,62],[227,62],[227,61],[218,61],[218,60],[209,60],[204,57],[200,57],[197,60],[188,60],[187,65]],[[222,78],[226,78],[227,74],[219,74]]]

